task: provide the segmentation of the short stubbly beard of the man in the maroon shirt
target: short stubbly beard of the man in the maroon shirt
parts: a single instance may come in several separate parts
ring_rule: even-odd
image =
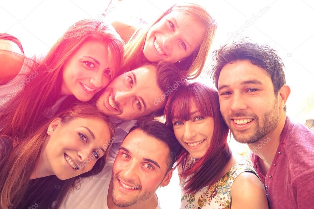
[[[225,118],[225,122],[226,124],[228,124],[230,131],[233,135],[233,137],[235,138],[235,140],[239,143],[243,143],[243,144],[251,144],[251,143],[255,143],[259,140],[261,140],[262,138],[264,138],[268,133],[270,133],[271,131],[273,131],[279,122],[279,108],[278,108],[278,100],[277,98],[275,99],[275,104],[273,106],[272,109],[270,109],[269,111],[265,112],[262,116],[262,118],[258,118],[257,115],[252,115],[254,120],[258,120],[255,121],[255,127],[251,127],[251,129],[248,130],[252,130],[253,128],[255,128],[255,131],[252,134],[247,134],[245,133],[247,130],[244,130],[243,133],[241,133],[241,130],[236,130],[235,128],[233,128],[233,126],[231,125],[231,118],[232,117],[241,117],[241,118],[246,118],[246,113],[245,112],[239,112],[239,113],[235,113],[232,115],[232,117],[228,118],[228,122],[226,122]],[[251,118],[251,117],[247,117],[247,118]],[[258,122],[260,122],[260,119],[262,124],[261,127],[258,124]],[[252,122],[250,122],[252,123]]]

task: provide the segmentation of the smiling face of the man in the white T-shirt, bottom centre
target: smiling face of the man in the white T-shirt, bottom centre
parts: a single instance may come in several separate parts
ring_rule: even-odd
[[[148,200],[157,188],[168,185],[172,169],[167,172],[169,148],[140,129],[124,139],[112,170],[112,201],[127,207]]]

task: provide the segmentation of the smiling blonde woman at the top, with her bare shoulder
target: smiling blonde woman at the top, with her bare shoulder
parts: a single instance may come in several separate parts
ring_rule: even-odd
[[[117,21],[112,25],[127,42],[123,72],[145,62],[165,61],[190,79],[203,70],[217,28],[214,18],[194,3],[175,4],[148,29],[136,30]]]

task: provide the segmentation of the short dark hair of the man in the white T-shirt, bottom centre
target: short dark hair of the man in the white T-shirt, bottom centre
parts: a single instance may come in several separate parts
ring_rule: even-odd
[[[142,119],[138,120],[130,132],[140,129],[148,136],[154,137],[160,142],[164,143],[169,149],[168,159],[167,159],[167,172],[173,167],[173,164],[176,162],[176,157],[178,150],[181,148],[181,145],[176,140],[175,134],[173,131],[168,128],[165,124],[159,122],[158,120],[151,119]],[[129,134],[128,133],[128,134]]]

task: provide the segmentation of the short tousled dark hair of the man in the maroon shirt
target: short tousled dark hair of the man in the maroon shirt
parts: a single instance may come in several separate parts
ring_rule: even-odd
[[[228,63],[234,63],[236,60],[249,60],[252,64],[263,68],[271,77],[275,96],[278,95],[280,88],[286,83],[284,77],[284,64],[277,52],[268,45],[255,44],[249,41],[239,41],[232,44],[226,44],[219,50],[213,52],[214,65],[211,76],[216,88],[218,88],[218,79],[221,69]],[[284,107],[286,111],[286,107]]]

